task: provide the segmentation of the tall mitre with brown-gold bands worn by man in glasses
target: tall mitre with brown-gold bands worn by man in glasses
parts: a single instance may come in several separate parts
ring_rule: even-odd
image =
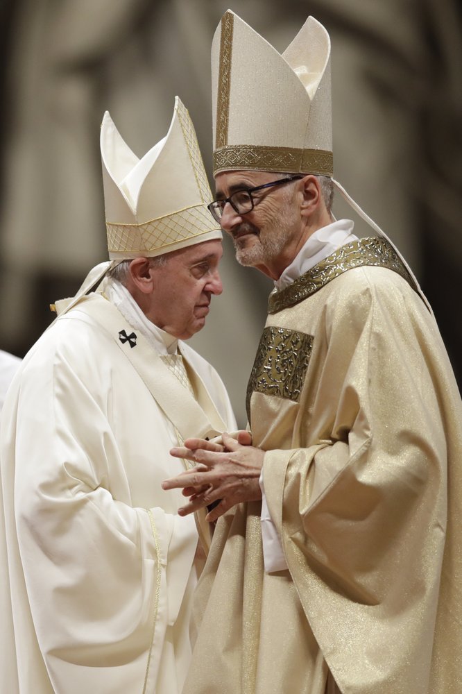
[[[332,176],[330,37],[308,17],[278,53],[228,10],[212,43],[214,175]]]

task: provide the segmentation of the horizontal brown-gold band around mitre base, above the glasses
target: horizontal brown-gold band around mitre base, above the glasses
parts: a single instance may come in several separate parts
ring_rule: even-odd
[[[214,174],[219,171],[246,169],[250,171],[280,171],[287,174],[316,174],[332,176],[334,157],[325,149],[298,147],[268,147],[266,145],[235,144],[214,151]]]

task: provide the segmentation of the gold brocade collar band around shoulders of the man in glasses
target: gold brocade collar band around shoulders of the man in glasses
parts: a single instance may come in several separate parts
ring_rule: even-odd
[[[364,265],[375,265],[393,270],[417,291],[411,275],[393,246],[386,239],[370,237],[341,246],[335,253],[328,255],[325,260],[292,282],[289,287],[271,294],[268,300],[268,313],[277,313],[293,306],[347,270]]]

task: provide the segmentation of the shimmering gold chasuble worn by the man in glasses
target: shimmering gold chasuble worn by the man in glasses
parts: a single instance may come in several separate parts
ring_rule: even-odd
[[[185,694],[462,691],[462,406],[411,284],[362,239],[271,295],[248,412],[289,570],[260,503],[219,520]]]

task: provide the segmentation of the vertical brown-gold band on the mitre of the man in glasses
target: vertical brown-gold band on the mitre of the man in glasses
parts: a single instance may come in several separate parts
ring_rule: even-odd
[[[233,28],[234,15],[232,12],[225,12],[221,19],[219,84],[216,99],[216,147],[223,147],[228,142]]]

